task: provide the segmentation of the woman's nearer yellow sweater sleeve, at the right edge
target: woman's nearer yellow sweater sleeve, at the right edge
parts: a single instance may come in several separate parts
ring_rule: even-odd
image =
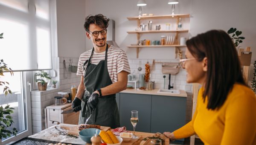
[[[252,145],[256,137],[256,97],[240,95],[228,104],[221,145]]]

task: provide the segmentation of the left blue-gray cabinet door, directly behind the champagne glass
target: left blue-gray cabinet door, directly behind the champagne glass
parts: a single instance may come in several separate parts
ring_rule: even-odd
[[[136,131],[150,132],[151,95],[120,93],[120,125],[133,131],[131,111],[139,111],[139,122]]]

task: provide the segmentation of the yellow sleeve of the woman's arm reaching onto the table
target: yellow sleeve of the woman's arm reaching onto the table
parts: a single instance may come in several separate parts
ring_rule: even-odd
[[[186,138],[186,137],[189,137],[189,136],[192,136],[195,134],[194,121],[195,121],[195,118],[198,113],[198,104],[199,104],[198,101],[199,101],[201,92],[202,92],[202,88],[198,92],[197,105],[196,105],[195,113],[193,115],[192,120],[189,123],[187,123],[186,125],[184,125],[183,127],[179,128],[173,132],[176,139]]]

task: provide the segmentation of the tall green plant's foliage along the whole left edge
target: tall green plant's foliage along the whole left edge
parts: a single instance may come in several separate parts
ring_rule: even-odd
[[[3,39],[3,33],[0,34],[0,39]],[[13,71],[10,67],[7,66],[6,63],[4,63],[3,59],[0,60],[0,76],[4,76],[4,72],[10,72],[11,75],[13,75]],[[12,91],[9,89],[8,86],[9,82],[7,81],[0,81],[0,86],[3,86],[3,93],[5,96],[7,96],[8,93],[12,94]],[[0,145],[2,144],[2,139],[7,138],[7,136],[11,136],[13,134],[16,136],[17,129],[13,128],[12,131],[9,131],[7,128],[10,127],[13,123],[11,113],[13,113],[12,107],[10,105],[7,105],[6,107],[3,108],[1,105],[0,107]]]

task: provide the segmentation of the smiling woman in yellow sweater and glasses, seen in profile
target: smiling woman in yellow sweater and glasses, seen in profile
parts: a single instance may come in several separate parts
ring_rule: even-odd
[[[170,133],[171,140],[198,134],[205,145],[256,145],[256,97],[241,73],[230,36],[211,30],[186,41],[188,83],[202,85],[192,120]]]

